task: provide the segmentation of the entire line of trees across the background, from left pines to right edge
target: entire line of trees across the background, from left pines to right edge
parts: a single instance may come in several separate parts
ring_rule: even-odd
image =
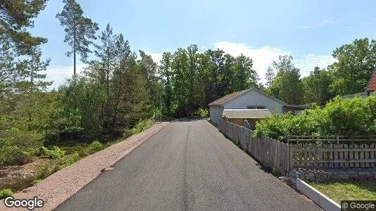
[[[50,59],[42,60],[39,48],[47,39],[27,31],[46,0],[0,3],[0,146],[9,146],[6,151],[36,148],[44,141],[121,136],[159,115],[207,116],[211,101],[251,87],[289,104],[324,105],[336,95],[363,91],[376,63],[375,40],[356,39],[334,50],[337,62],[315,68],[308,77],[301,78],[292,56],[280,56],[268,68],[264,86],[247,56],[199,52],[192,44],[153,61],[144,51],[132,51],[110,24],[100,30],[76,1],[63,3],[56,18],[74,73],[52,90],[44,74]],[[80,74],[77,57],[87,64]]]

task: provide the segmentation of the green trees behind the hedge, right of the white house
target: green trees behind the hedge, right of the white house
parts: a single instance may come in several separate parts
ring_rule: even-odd
[[[320,106],[334,96],[364,92],[376,67],[376,40],[355,39],[334,49],[332,56],[336,62],[327,68],[316,67],[303,78],[292,56],[280,56],[266,72],[266,91],[292,105],[318,103]]]

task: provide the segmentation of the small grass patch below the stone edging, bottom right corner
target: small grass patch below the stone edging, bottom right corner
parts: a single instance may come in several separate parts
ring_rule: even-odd
[[[310,182],[311,186],[337,203],[341,200],[376,200],[376,181]]]

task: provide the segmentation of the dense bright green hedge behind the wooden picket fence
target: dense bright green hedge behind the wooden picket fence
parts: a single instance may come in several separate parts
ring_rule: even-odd
[[[376,95],[366,99],[334,98],[324,108],[313,106],[302,115],[276,114],[256,123],[255,136],[284,140],[287,135],[374,135]]]

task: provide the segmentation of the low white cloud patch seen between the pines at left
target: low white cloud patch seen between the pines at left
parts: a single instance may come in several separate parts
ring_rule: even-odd
[[[77,73],[80,73],[83,68],[87,65],[78,64],[76,66]],[[59,85],[63,84],[66,79],[69,79],[73,75],[73,65],[72,66],[49,66],[46,70],[46,80],[54,81],[51,88],[58,88]]]

